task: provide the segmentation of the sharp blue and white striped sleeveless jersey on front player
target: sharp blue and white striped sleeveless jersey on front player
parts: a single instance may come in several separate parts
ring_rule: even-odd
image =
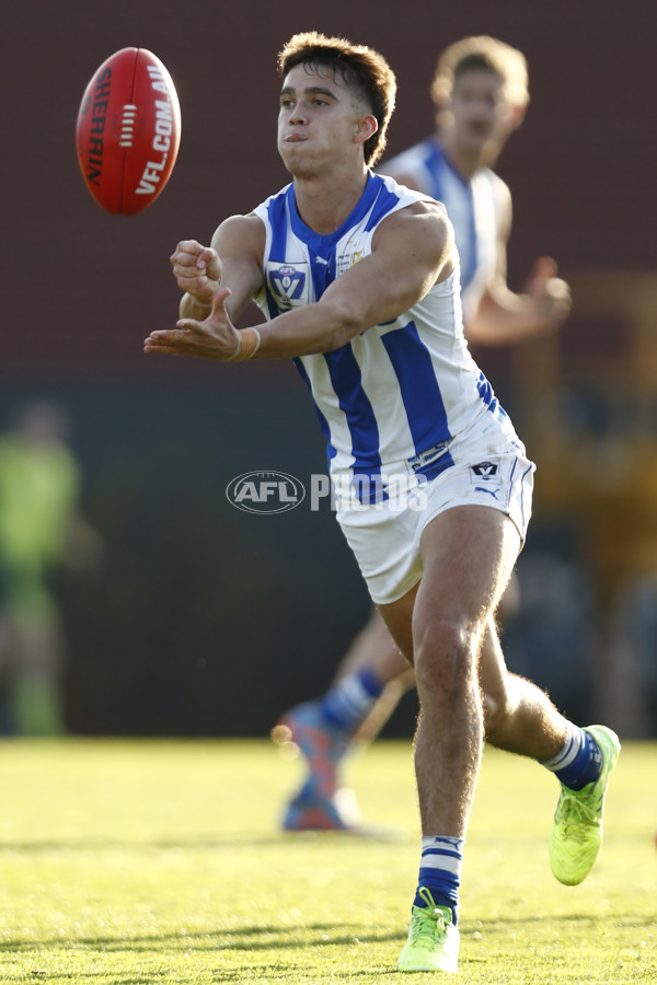
[[[370,174],[362,197],[335,232],[320,235],[297,211],[293,185],[254,212],[266,228],[264,287],[270,320],[319,301],[336,277],[371,253],[379,223],[426,196]],[[423,300],[333,352],[295,359],[314,398],[331,473],[374,477],[405,470],[434,478],[452,464],[456,436],[505,418],[463,336],[458,264]]]

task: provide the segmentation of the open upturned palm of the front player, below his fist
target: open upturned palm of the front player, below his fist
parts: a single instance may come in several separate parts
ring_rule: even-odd
[[[229,294],[228,288],[217,291],[212,298],[212,310],[203,322],[181,318],[175,328],[151,332],[145,339],[143,351],[230,360],[238,351],[240,337],[226,311]]]

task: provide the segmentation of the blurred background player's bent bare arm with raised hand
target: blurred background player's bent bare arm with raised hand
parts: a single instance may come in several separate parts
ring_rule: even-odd
[[[496,267],[476,312],[465,324],[465,335],[479,345],[500,346],[533,335],[554,332],[570,313],[570,289],[557,277],[549,256],[534,262],[525,292],[507,285],[507,243],[511,230],[511,196],[500,181]]]

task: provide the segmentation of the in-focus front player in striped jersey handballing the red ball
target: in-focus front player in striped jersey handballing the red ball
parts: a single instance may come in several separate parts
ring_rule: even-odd
[[[505,667],[494,613],[525,538],[533,466],[468,351],[443,207],[370,170],[394,74],[370,48],[313,32],[288,42],[279,69],[278,149],[293,181],[226,219],[211,247],[178,243],[181,318],[145,349],[292,358],[311,390],[337,520],[416,672],[423,839],[397,967],[454,973],[484,729],[561,781],[550,857],[568,884],[600,850],[619,742],[567,721]],[[266,324],[237,329],[252,300]]]

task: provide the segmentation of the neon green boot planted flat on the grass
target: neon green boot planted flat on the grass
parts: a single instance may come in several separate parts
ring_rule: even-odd
[[[460,935],[452,923],[448,906],[436,906],[425,887],[419,895],[426,906],[414,906],[411,915],[408,940],[397,961],[399,971],[442,971],[456,973],[459,970]]]

